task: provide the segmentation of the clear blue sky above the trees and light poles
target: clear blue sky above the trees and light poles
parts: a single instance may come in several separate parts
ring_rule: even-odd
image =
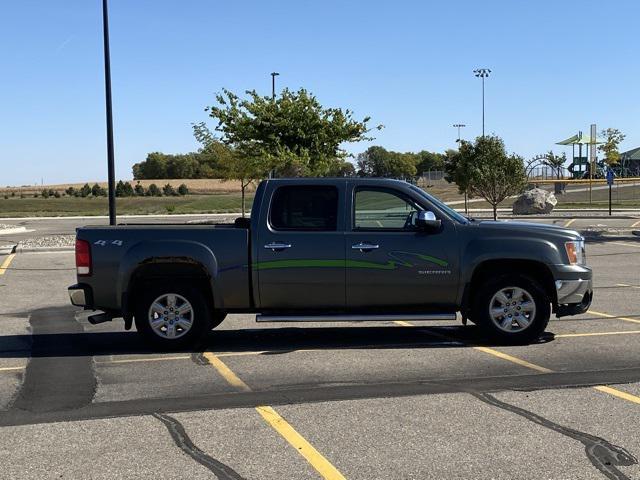
[[[639,17],[634,0],[110,0],[116,175],[196,149],[214,94],[267,95],[274,70],[384,124],[393,150],[454,147],[457,122],[480,134],[476,67],[493,71],[487,132],[525,158],[593,122],[637,147]],[[0,185],[106,178],[101,28],[100,0],[0,4]]]

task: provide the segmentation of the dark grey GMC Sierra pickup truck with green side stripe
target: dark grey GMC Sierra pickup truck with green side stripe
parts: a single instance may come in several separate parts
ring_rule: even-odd
[[[263,181],[251,219],[79,228],[74,305],[184,348],[228,313],[257,321],[454,320],[537,339],[585,312],[592,273],[575,231],[478,221],[409,183]]]

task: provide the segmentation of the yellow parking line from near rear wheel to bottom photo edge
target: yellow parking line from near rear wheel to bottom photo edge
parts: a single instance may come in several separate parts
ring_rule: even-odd
[[[250,392],[251,387],[244,383],[240,377],[238,377],[233,371],[215,354],[211,352],[204,352],[203,356],[209,360],[209,363],[218,371],[218,373],[224,378],[230,385],[245,391]],[[282,418],[278,412],[268,405],[261,405],[256,407],[256,411],[276,432],[278,432],[282,438],[284,438],[289,444],[296,449],[296,451],[302,455],[302,457],[309,462],[309,464],[316,469],[316,471],[327,480],[345,480],[344,476],[334,467],[329,460],[327,460],[313,445],[311,445],[305,438],[300,435],[284,418]]]

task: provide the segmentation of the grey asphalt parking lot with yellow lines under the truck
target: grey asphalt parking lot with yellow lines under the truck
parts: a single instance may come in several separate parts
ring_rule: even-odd
[[[69,305],[72,253],[0,256],[0,477],[640,478],[640,238],[587,248],[537,344],[236,315],[170,354]]]

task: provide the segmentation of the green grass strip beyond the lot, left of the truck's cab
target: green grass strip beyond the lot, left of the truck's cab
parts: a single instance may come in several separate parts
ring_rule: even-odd
[[[251,208],[253,194],[247,196],[247,209]],[[167,213],[224,213],[240,211],[240,194],[187,195],[184,197],[128,197],[117,198],[119,214]],[[108,203],[99,198],[18,198],[0,197],[1,217],[107,215]]]

